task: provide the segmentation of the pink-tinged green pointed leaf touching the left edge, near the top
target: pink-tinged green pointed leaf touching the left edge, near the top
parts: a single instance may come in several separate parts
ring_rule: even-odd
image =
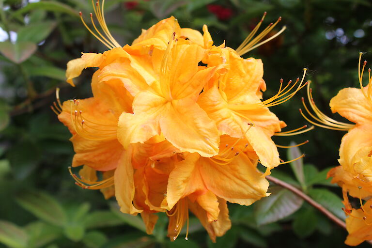
[[[15,44],[5,41],[0,42],[0,52],[12,62],[17,64],[24,62],[37,50],[36,44],[32,42],[16,42]]]

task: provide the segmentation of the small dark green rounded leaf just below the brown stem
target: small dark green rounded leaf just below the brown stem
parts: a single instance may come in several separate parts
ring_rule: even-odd
[[[300,211],[292,223],[294,233],[301,238],[310,236],[317,227],[317,217],[313,207],[308,207]]]

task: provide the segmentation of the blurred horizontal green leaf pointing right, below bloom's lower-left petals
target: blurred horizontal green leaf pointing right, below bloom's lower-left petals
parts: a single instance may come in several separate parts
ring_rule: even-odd
[[[84,218],[86,228],[112,227],[125,223],[110,211],[96,211]]]

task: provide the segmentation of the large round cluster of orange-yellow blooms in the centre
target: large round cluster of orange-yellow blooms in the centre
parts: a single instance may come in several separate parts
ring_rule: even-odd
[[[83,23],[110,50],[85,53],[66,71],[74,85],[84,68],[98,67],[93,97],[62,105],[57,94],[53,107],[73,134],[72,166],[84,165],[71,175],[83,188],[115,195],[122,212],[140,213],[148,233],[155,213],[166,212],[175,240],[184,225],[188,230],[191,211],[215,240],[231,227],[226,202],[250,205],[269,195],[256,166],[269,174],[280,164],[271,136],[306,131],[280,132],[285,124],[268,110],[300,90],[304,77],[285,87],[281,80],[279,92],[261,101],[263,64],[240,57],[268,41],[259,43],[280,19],[253,38],[261,21],[237,51],[214,46],[206,26],[203,34],[181,29],[174,17],[121,47],[107,29],[103,3],[93,7],[103,32]]]

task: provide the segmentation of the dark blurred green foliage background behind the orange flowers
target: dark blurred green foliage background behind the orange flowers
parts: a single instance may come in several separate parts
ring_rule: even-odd
[[[211,4],[228,11],[213,13]],[[295,79],[307,67],[315,101],[326,114],[340,89],[357,87],[358,52],[371,58],[371,10],[369,0],[106,0],[105,5],[109,29],[122,45],[173,15],[181,27],[201,30],[207,24],[216,44],[225,40],[236,48],[264,11],[264,24],[282,16],[284,34],[246,55],[263,60],[268,88],[263,96],[276,93],[279,78]],[[73,156],[70,134],[49,105],[56,87],[62,99],[89,97],[93,71],[84,71],[72,88],[64,82],[66,63],[81,52],[105,50],[83,27],[78,11],[88,20],[90,0],[0,0],[0,247],[345,246],[344,230],[279,186],[271,186],[272,195],[252,206],[230,204],[233,228],[216,244],[194,217],[188,241],[168,241],[164,215],[149,236],[139,217],[123,215],[99,192],[75,186],[67,171]],[[306,124],[298,113],[301,96],[304,91],[272,109],[289,129]],[[340,218],[341,189],[326,180],[326,172],[337,165],[343,134],[316,128],[298,137],[276,137],[283,145],[310,142],[301,147],[304,159],[272,171]],[[288,160],[301,153],[280,149]]]

